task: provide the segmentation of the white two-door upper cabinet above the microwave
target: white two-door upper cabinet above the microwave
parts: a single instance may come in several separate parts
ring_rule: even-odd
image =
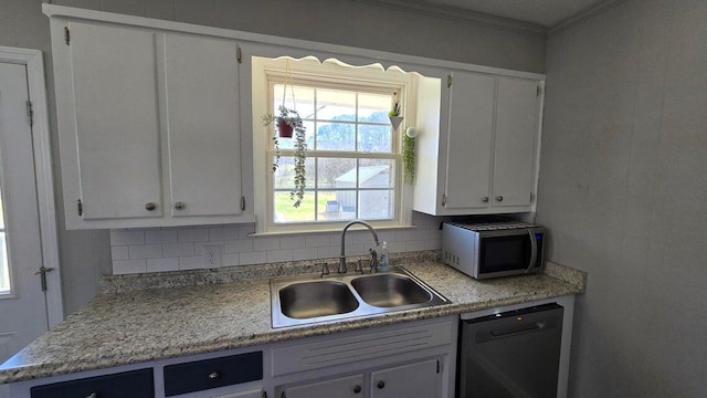
[[[414,210],[439,216],[534,211],[542,82],[455,71],[444,83],[440,102],[419,101],[421,117],[435,107],[442,117],[436,132],[420,133]],[[429,95],[429,90],[419,92],[419,98]],[[431,147],[435,156],[425,155]]]

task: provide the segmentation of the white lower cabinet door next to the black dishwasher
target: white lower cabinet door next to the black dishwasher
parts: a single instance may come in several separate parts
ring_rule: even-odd
[[[371,373],[372,398],[442,397],[442,373],[437,359]]]

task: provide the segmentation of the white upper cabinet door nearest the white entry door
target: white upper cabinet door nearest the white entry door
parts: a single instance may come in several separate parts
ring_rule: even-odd
[[[75,118],[67,123],[75,126],[67,133],[75,135],[81,190],[71,201],[82,200],[84,220],[160,217],[156,35],[82,22],[68,28]]]

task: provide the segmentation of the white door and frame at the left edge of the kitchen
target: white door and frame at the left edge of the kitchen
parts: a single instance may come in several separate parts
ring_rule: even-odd
[[[38,200],[38,180],[42,185],[48,181],[43,179],[43,168],[39,175],[35,174],[34,158],[35,148],[46,142],[33,136],[28,115],[28,101],[31,100],[28,75],[42,67],[41,53],[33,52],[39,60],[32,61],[34,64],[29,72],[27,62],[1,62],[6,59],[6,49],[0,48],[0,363],[46,332],[50,324],[46,293],[42,290],[42,275],[35,272],[54,261],[44,261],[46,252],[42,247],[40,214],[45,213],[46,209],[42,207],[46,203]],[[13,59],[14,55],[11,53],[7,57]],[[22,56],[19,54],[17,57]],[[42,75],[40,85],[43,84]],[[44,97],[42,100],[45,101]],[[42,105],[44,113],[45,103]],[[45,129],[46,124],[42,123],[36,128]],[[38,155],[40,164],[46,160],[43,155]],[[44,187],[40,192],[45,193]],[[51,203],[53,206],[53,201]],[[53,238],[55,240],[55,235]],[[44,239],[49,240],[49,237],[44,235]],[[55,241],[49,244],[55,248]],[[59,290],[57,280],[53,276],[49,285]],[[55,301],[55,292],[50,297]],[[49,305],[56,307],[56,303],[50,302]],[[0,388],[0,397],[2,395]]]

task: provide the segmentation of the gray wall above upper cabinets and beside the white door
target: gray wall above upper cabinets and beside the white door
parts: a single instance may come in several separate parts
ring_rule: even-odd
[[[51,2],[520,71],[542,72],[545,67],[545,38],[541,35],[350,0]],[[48,55],[55,198],[62,209],[49,20],[41,12],[40,0],[0,0],[0,45],[38,49]],[[65,231],[63,217],[60,218],[65,310],[71,313],[95,295],[98,277],[110,273],[109,233],[104,230]]]

